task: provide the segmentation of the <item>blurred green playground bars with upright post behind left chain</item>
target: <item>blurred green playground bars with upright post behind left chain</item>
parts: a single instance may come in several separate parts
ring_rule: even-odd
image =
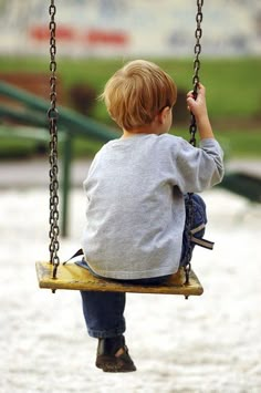
[[[19,107],[0,105],[0,121],[15,122],[25,125],[28,130],[9,132],[7,127],[0,127],[1,136],[19,138],[32,138],[49,142],[48,117],[49,102],[35,94],[18,89],[10,83],[0,81],[0,96],[11,99],[22,104]],[[117,137],[117,132],[72,110],[59,108],[60,142],[62,143],[62,236],[67,235],[67,204],[70,192],[70,168],[72,162],[72,142],[75,136],[84,136],[101,142],[107,142]],[[33,127],[33,128],[32,128]]]

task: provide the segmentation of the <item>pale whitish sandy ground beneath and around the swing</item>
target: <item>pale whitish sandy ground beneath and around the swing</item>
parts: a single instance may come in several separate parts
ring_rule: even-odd
[[[94,366],[77,291],[38,288],[34,261],[48,260],[48,192],[0,193],[0,392],[154,393],[261,392],[261,207],[220,189],[205,193],[208,237],[194,269],[205,293],[128,294],[126,340],[137,372]],[[83,194],[74,189],[71,236],[61,259],[79,246]]]

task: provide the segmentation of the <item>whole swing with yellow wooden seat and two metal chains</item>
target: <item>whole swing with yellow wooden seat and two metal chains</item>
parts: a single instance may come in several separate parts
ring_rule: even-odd
[[[199,83],[200,61],[199,54],[201,52],[200,38],[202,35],[201,8],[203,0],[197,0],[197,29],[195,32],[195,61],[194,61],[194,96],[197,96],[197,87]],[[191,269],[191,245],[190,252],[186,261],[186,266],[170,276],[164,283],[160,285],[133,285],[129,282],[121,282],[118,280],[102,279],[94,277],[88,270],[79,267],[75,263],[60,265],[58,251],[59,244],[59,182],[58,182],[58,108],[56,108],[56,43],[55,43],[55,12],[56,8],[54,0],[51,0],[49,13],[50,21],[50,101],[51,106],[48,111],[49,130],[50,130],[50,262],[36,262],[36,275],[40,288],[51,289],[55,292],[56,289],[83,290],[83,291],[107,291],[107,292],[137,292],[137,293],[164,293],[164,294],[182,294],[186,299],[189,296],[199,296],[203,292],[203,288],[199,282],[197,276]],[[189,127],[190,141],[192,146],[196,146],[195,134],[197,132],[197,124],[195,116],[191,114],[191,124]],[[192,194],[189,195],[189,228],[192,223]],[[190,234],[190,239],[191,239]]]

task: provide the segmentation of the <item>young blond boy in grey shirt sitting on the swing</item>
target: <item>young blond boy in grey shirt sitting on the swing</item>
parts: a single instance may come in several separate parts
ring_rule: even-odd
[[[200,148],[168,134],[177,90],[156,64],[127,63],[109,79],[102,97],[123,135],[96,154],[84,182],[84,263],[100,277],[159,283],[186,262],[186,194],[200,193],[223,175],[205,87],[199,85],[197,100],[191,92],[187,96]],[[194,209],[194,226],[206,224],[205,204],[197,195]],[[81,294],[88,334],[98,339],[96,366],[135,371],[123,335],[125,293]]]

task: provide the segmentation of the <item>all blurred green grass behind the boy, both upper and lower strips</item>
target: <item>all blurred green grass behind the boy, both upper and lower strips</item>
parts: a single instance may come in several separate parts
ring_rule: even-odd
[[[100,94],[112,73],[123,64],[122,59],[113,60],[71,60],[58,59],[58,73],[65,92],[81,82],[94,87]],[[161,65],[176,81],[178,89],[188,91],[191,89],[192,59],[153,59]],[[203,59],[201,60],[200,76],[207,86],[207,101],[209,115],[217,124],[217,137],[231,156],[260,157],[261,130],[260,122],[254,118],[261,117],[261,59]],[[42,58],[0,58],[1,72],[44,72],[49,73],[49,56]],[[67,97],[67,104],[70,99]],[[111,121],[104,104],[97,102],[93,116],[109,124]],[[237,124],[231,128],[228,124]],[[186,128],[186,127],[185,127]],[[187,131],[176,132],[188,137]],[[17,139],[15,139],[17,141]],[[17,147],[15,147],[17,144]],[[19,149],[32,154],[32,141],[13,142],[4,138],[0,144],[0,157],[7,156],[8,151]],[[74,155],[77,157],[93,155],[101,146],[100,143],[76,139]]]

